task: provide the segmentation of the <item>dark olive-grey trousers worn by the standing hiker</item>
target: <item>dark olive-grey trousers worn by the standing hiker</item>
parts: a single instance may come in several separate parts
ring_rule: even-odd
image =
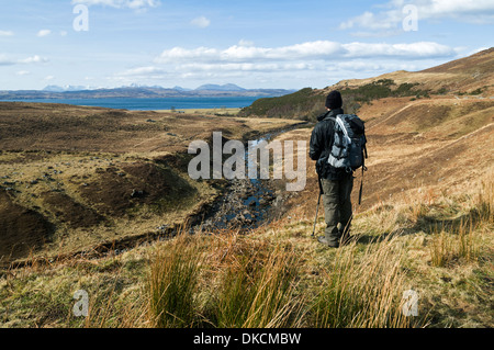
[[[351,190],[353,176],[349,174],[341,180],[322,179],[324,217],[326,229],[324,235],[329,244],[338,244],[351,217]]]

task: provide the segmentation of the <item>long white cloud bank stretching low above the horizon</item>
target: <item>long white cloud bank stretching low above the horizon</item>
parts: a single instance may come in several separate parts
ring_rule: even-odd
[[[419,70],[456,58],[459,48],[435,42],[338,43],[305,42],[279,47],[259,47],[239,42],[226,48],[173,47],[164,50],[154,66],[128,70],[121,78],[154,79],[156,69],[167,69],[167,80],[236,81],[325,87],[343,79],[373,77],[394,70]],[[135,75],[134,75],[135,74]],[[124,79],[122,79],[124,80]],[[299,87],[299,88],[300,88]]]

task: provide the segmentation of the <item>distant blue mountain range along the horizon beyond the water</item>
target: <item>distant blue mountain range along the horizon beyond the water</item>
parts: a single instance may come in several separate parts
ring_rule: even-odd
[[[184,97],[281,97],[295,92],[285,89],[244,89],[234,83],[203,84],[194,90],[159,86],[132,84],[113,89],[93,89],[80,86],[47,86],[43,90],[3,90],[0,100],[22,99],[104,99],[104,98],[184,98]]]

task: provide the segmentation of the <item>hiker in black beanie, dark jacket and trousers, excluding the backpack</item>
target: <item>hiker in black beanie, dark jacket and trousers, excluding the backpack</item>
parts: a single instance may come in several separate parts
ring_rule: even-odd
[[[316,172],[323,195],[326,221],[324,236],[317,239],[328,247],[338,248],[349,238],[348,230],[352,216],[350,195],[353,188],[353,171],[335,168],[327,161],[335,138],[335,117],[338,114],[344,114],[339,91],[332,91],[327,95],[325,106],[327,112],[317,117],[318,123],[312,132],[308,155],[312,160],[316,160]]]

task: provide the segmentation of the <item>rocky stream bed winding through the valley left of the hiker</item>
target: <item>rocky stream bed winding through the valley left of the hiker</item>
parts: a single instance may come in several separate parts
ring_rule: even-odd
[[[250,145],[257,145],[262,140],[271,140],[274,136],[291,129],[306,125],[306,122],[292,125],[288,128],[272,132],[256,140]],[[246,147],[245,161],[246,169],[249,163],[249,147]],[[256,165],[257,166],[257,165]],[[258,171],[259,173],[259,171]],[[281,187],[280,187],[281,189]],[[249,230],[259,227],[283,214],[284,191],[276,189],[276,181],[257,179],[235,179],[228,180],[224,193],[216,201],[194,215],[189,221],[189,233],[194,234],[201,230],[209,233],[221,233],[225,229]],[[153,232],[141,235],[124,237],[119,240],[101,242],[91,249],[81,251],[60,253],[57,259],[83,257],[85,259],[98,259],[109,255],[120,255],[137,246],[146,246],[156,241],[173,237],[181,228],[179,226],[161,225]],[[26,259],[16,261],[12,268],[30,266],[34,261],[37,263],[48,263],[53,259]]]

